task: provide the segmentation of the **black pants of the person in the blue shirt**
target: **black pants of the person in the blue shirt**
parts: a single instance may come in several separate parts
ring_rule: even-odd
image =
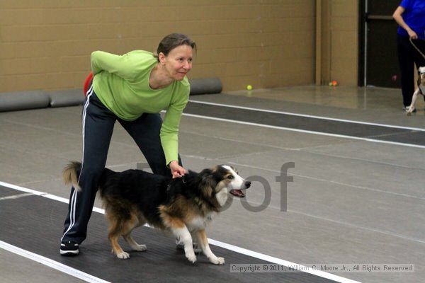
[[[425,53],[424,40],[413,40],[413,43],[422,53]],[[403,105],[409,106],[412,103],[415,85],[414,64],[416,64],[416,68],[424,67],[425,59],[410,43],[409,37],[397,35],[397,52],[402,80]]]

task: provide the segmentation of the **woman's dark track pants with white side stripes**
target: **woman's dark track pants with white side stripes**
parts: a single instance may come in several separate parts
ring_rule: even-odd
[[[118,118],[89,89],[84,103],[83,122],[83,158],[79,172],[81,192],[71,189],[67,219],[64,223],[62,241],[81,243],[86,238],[87,224],[94,206],[98,188],[98,178],[106,165],[109,144],[115,121],[135,140],[154,173],[171,176],[166,167],[159,131],[162,119],[159,113],[145,113],[135,121]],[[181,163],[179,158],[179,163]]]

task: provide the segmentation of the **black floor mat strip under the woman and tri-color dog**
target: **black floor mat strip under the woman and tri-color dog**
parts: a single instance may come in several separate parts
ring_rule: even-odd
[[[17,195],[0,186],[0,197]],[[40,196],[27,196],[0,201],[0,240],[29,250],[89,275],[109,282],[333,282],[303,272],[234,273],[231,264],[269,263],[230,250],[211,246],[217,256],[225,258],[225,265],[212,265],[204,255],[191,264],[183,252],[176,250],[174,238],[147,227],[137,229],[134,238],[145,243],[143,253],[130,252],[129,260],[111,254],[106,237],[106,220],[94,212],[89,223],[89,236],[74,258],[59,254],[60,237],[67,204]],[[126,243],[123,249],[128,250]]]

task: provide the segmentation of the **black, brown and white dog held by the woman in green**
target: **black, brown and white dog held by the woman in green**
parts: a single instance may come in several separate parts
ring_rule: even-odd
[[[81,163],[64,168],[64,181],[78,186]],[[251,182],[244,180],[231,166],[220,165],[200,173],[189,171],[183,178],[167,178],[140,170],[114,172],[105,168],[99,180],[99,192],[109,222],[108,238],[118,258],[129,258],[118,244],[123,236],[132,250],[144,251],[131,236],[138,226],[149,224],[171,231],[184,244],[186,258],[196,262],[192,235],[208,260],[215,265],[225,263],[208,245],[205,227],[220,212],[230,195],[244,197]]]

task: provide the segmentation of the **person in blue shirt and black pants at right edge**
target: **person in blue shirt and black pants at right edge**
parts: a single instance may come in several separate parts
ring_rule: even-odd
[[[403,110],[408,111],[414,93],[414,64],[425,66],[425,0],[403,0],[392,14],[399,24],[397,53],[402,82]],[[412,45],[412,42],[414,45]]]

